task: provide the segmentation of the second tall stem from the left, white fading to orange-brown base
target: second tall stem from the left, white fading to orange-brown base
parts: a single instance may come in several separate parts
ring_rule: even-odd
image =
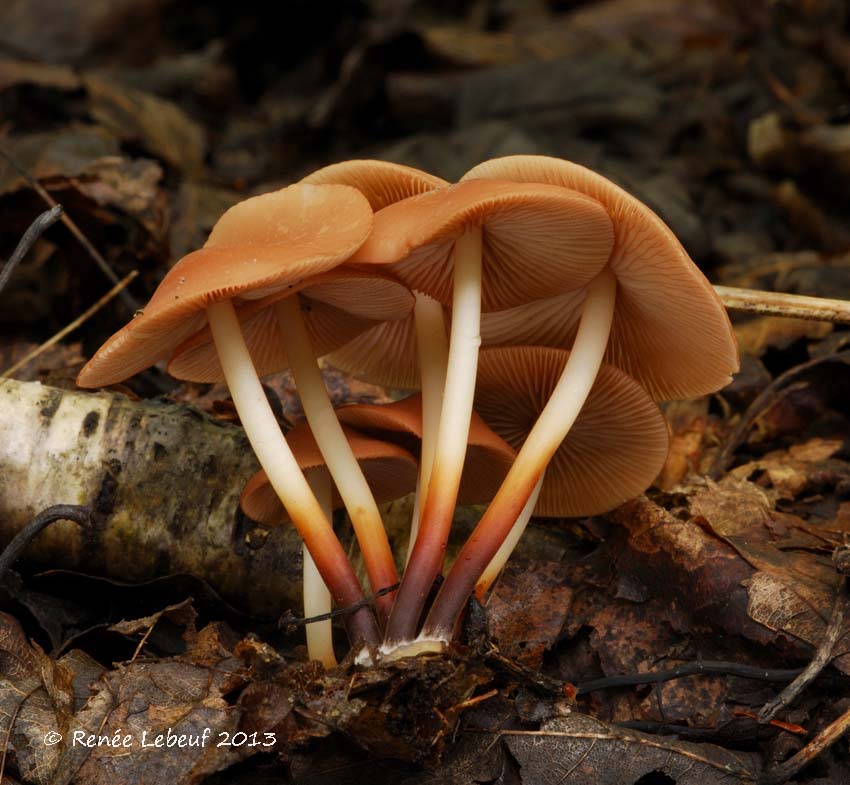
[[[296,295],[281,300],[277,314],[304,414],[351,518],[372,591],[378,592],[394,586],[398,583],[398,572],[384,522],[328,397],[301,315],[300,298]],[[383,621],[389,616],[394,598],[394,594],[385,594],[375,599],[375,606]]]

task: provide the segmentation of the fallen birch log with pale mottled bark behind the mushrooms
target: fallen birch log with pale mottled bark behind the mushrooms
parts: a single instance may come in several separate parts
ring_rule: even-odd
[[[297,533],[258,535],[239,511],[258,468],[241,428],[194,407],[0,381],[0,544],[47,507],[92,508],[91,526],[61,521],[36,538],[24,558],[39,567],[128,582],[191,573],[251,613],[300,613]],[[409,501],[383,512],[400,561]],[[458,544],[476,518],[459,513]],[[336,528],[362,580],[351,527],[341,517]],[[518,557],[557,560],[566,542],[552,529],[532,531]]]

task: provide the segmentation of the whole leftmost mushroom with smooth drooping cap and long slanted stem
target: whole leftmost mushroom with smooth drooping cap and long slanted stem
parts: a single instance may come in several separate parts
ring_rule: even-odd
[[[169,270],[143,312],[107,340],[77,378],[82,387],[126,379],[165,358],[208,322],[251,446],[343,607],[362,600],[360,584],[280,431],[235,305],[331,270],[357,250],[371,227],[369,203],[346,186],[295,185],[235,205],[213,227],[205,246]],[[355,641],[377,645],[370,608],[351,614],[347,623]]]

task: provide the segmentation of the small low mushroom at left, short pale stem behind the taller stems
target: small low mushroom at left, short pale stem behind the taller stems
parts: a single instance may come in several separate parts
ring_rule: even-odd
[[[417,466],[416,459],[409,452],[396,444],[369,438],[352,428],[343,427],[342,430],[379,504],[410,493],[416,484]],[[298,465],[330,520],[333,510],[343,507],[344,502],[333,484],[313,432],[306,422],[302,422],[296,425],[286,438]],[[271,487],[265,471],[260,470],[248,480],[240,501],[244,513],[258,523],[279,526],[289,522],[289,516]],[[323,616],[331,610],[331,596],[307,548],[304,548],[303,563],[304,616],[307,619]],[[310,659],[319,660],[326,668],[336,665],[331,620],[308,622],[305,633]]]

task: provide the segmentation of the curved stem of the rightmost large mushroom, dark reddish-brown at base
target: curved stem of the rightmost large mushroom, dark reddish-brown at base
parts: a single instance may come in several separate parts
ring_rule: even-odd
[[[602,365],[614,318],[616,293],[617,279],[608,269],[588,286],[570,358],[501,488],[443,582],[425,620],[423,636],[449,639],[467,598],[569,433]]]

